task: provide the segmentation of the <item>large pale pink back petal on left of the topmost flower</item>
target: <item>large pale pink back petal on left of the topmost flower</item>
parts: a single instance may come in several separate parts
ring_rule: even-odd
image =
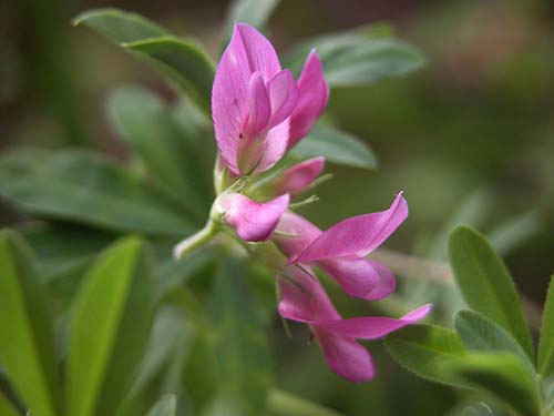
[[[267,83],[280,71],[271,43],[246,24],[236,24],[212,88],[212,118],[217,149],[228,169],[239,174],[238,143],[248,116],[248,85],[254,72]]]

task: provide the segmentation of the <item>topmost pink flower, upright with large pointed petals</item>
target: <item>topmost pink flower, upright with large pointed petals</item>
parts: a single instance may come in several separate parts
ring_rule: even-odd
[[[295,82],[271,43],[235,24],[212,90],[212,116],[220,158],[234,174],[264,172],[311,129],[329,90],[315,52]]]

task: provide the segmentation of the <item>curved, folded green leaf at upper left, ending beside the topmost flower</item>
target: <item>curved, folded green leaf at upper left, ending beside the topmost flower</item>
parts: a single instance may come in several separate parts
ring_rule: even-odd
[[[86,24],[136,54],[189,94],[209,115],[215,63],[192,40],[177,39],[146,19],[117,9],[79,14],[73,24]]]

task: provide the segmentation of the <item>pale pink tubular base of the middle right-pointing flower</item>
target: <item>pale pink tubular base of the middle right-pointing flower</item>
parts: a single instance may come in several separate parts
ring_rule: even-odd
[[[273,241],[289,257],[300,254],[321,234],[321,230],[316,225],[290,211],[283,214],[277,231],[278,233],[274,234]]]

